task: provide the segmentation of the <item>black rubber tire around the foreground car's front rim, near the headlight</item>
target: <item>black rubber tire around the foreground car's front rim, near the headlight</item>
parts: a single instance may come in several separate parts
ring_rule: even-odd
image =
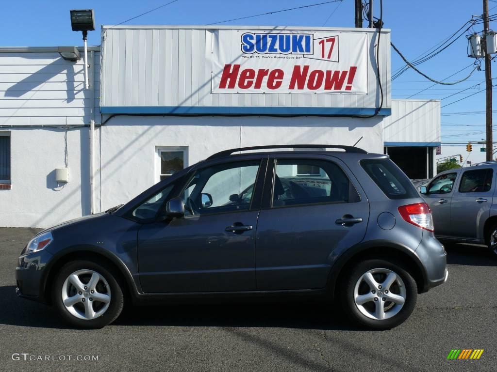
[[[71,274],[79,270],[92,270],[98,273],[101,277],[103,277],[104,280],[107,282],[107,284],[102,284],[103,281],[99,281],[98,284],[100,288],[104,288],[102,292],[107,293],[107,285],[110,288],[109,294],[111,294],[111,296],[108,308],[101,315],[97,316],[94,319],[81,319],[73,315],[66,308],[62,299],[62,289],[64,286],[64,282]],[[102,328],[107,324],[112,323],[119,316],[124,306],[123,290],[121,288],[121,285],[116,279],[118,277],[119,277],[118,274],[114,272],[114,270],[106,267],[105,264],[100,262],[93,262],[86,260],[76,260],[68,262],[59,270],[55,278],[54,285],[52,287],[53,304],[55,308],[59,311],[59,313],[62,315],[63,319],[76,327],[87,328],[87,329]],[[81,279],[84,284],[85,282],[84,275],[81,277]],[[95,289],[95,292],[96,291],[97,290]],[[91,295],[88,294],[88,296]],[[88,301],[88,299],[86,301]],[[94,307],[98,306],[103,307],[104,304],[92,301],[91,306],[92,309],[94,309]],[[78,307],[78,309],[81,309],[80,304],[76,304],[74,307]]]

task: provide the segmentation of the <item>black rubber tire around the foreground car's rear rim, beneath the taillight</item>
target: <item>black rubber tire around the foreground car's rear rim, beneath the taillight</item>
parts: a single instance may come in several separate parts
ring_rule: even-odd
[[[354,300],[354,290],[361,276],[367,273],[369,270],[374,270],[378,268],[393,271],[396,275],[400,277],[400,279],[402,279],[402,282],[404,283],[403,287],[405,288],[405,302],[400,308],[400,310],[397,310],[398,307],[396,307],[396,305],[393,302],[381,301],[383,299],[381,298],[381,296],[387,296],[382,292],[382,290],[377,290],[378,292],[376,293],[376,296],[373,295],[371,292],[371,296],[376,297],[377,300],[365,303],[365,305],[363,306],[364,311],[371,309],[371,311],[373,312],[378,304],[383,304],[378,306],[383,306],[383,309],[385,309],[385,314],[387,314],[389,311],[394,311],[391,314],[397,312],[395,315],[381,320],[374,319],[365,315],[363,312],[361,312],[361,310],[359,310],[359,306],[356,305]],[[374,275],[386,276],[387,274],[379,273]],[[378,276],[376,277],[378,278]],[[381,276],[379,278],[381,278]],[[361,286],[364,286],[364,284],[365,283],[362,282],[358,286],[358,288],[361,288]],[[394,283],[392,286],[393,287],[390,291],[391,292],[390,294],[400,293],[401,286],[399,286],[398,283]],[[377,329],[377,330],[390,329],[398,326],[399,324],[402,324],[409,317],[409,315],[411,315],[411,313],[414,310],[414,306],[416,305],[417,286],[413,277],[409,274],[409,272],[406,269],[402,267],[402,264],[394,261],[389,261],[386,259],[369,259],[359,262],[355,267],[352,268],[349,274],[346,274],[346,276],[343,278],[343,280],[340,283],[340,287],[341,291],[339,291],[338,300],[341,302],[342,309],[344,310],[344,312],[349,316],[349,318],[354,323],[358,323],[369,329]],[[366,288],[369,291],[370,287]],[[383,289],[383,291],[384,290],[385,289]],[[369,295],[369,292],[366,292],[364,288],[362,288],[362,292]],[[358,294],[362,294],[362,292]],[[373,315],[374,314],[371,314],[371,316]]]

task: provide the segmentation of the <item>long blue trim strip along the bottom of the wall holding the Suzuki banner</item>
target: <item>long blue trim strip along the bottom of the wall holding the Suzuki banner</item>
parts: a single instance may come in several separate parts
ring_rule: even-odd
[[[373,115],[374,108],[359,107],[253,107],[253,106],[102,106],[102,114],[167,115]],[[392,115],[392,109],[381,109],[380,116]]]

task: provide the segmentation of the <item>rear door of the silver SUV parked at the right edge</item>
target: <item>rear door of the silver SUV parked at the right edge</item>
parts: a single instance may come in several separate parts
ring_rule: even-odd
[[[495,182],[492,168],[464,171],[459,186],[454,189],[451,206],[452,235],[478,239],[478,227],[490,216]],[[435,227],[436,228],[436,227]],[[481,229],[483,230],[483,229]]]

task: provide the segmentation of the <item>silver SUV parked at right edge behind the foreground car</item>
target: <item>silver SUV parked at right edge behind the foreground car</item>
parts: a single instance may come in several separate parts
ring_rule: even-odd
[[[487,245],[497,257],[497,162],[438,174],[420,192],[441,240]]]

